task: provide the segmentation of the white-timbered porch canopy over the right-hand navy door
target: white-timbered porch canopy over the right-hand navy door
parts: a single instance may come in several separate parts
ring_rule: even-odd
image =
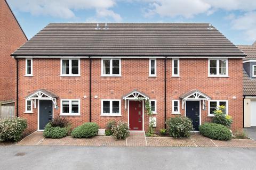
[[[180,98],[182,99],[182,109],[184,109],[186,100],[202,100],[203,109],[205,109],[206,101],[211,99],[210,96],[203,94],[203,92],[199,90],[191,90],[186,94],[181,95]]]

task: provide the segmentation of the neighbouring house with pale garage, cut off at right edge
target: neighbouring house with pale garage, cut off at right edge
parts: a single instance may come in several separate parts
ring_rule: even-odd
[[[251,46],[237,46],[247,56],[244,67],[244,127],[256,126],[256,41]]]

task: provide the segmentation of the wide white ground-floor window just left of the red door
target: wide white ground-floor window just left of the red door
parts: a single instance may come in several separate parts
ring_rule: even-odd
[[[121,116],[121,100],[101,100],[101,116]]]

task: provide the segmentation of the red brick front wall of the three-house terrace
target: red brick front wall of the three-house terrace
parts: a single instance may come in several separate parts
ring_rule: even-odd
[[[101,60],[92,59],[92,122],[98,123],[104,129],[109,120],[127,122],[128,111],[125,101],[121,100],[122,116],[101,116],[101,99],[122,99],[122,96],[137,89],[157,100],[157,128],[164,128],[164,59],[157,59],[157,77],[148,77],[148,59],[122,58],[122,77],[101,77]],[[208,60],[180,59],[180,77],[172,75],[172,60],[168,59],[167,67],[167,118],[175,116],[172,113],[172,100],[192,89],[198,89],[214,100],[228,100],[228,112],[234,119],[232,129],[241,130],[243,126],[242,102],[242,59],[228,60],[228,78],[209,78]],[[60,99],[80,99],[81,116],[68,116],[73,127],[89,122],[89,60],[81,58],[81,77],[60,77],[60,58],[34,58],[33,77],[24,77],[25,59],[19,59],[19,115],[27,118],[27,132],[37,130],[38,106],[33,113],[25,112],[25,97],[38,89],[47,89],[57,95],[58,109],[53,109],[54,116],[60,114]],[[84,98],[84,96],[87,96]],[[95,97],[97,96],[97,97]],[[233,97],[236,97],[234,99]],[[202,104],[202,103],[201,103]],[[185,114],[180,100],[180,112]],[[201,109],[201,122],[211,121],[206,111]],[[145,111],[145,131],[148,130],[149,117]]]

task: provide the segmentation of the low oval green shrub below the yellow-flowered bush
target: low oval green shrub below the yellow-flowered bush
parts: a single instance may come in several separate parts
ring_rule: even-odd
[[[232,133],[226,126],[217,123],[204,123],[199,126],[199,131],[211,139],[229,140],[232,137]]]

